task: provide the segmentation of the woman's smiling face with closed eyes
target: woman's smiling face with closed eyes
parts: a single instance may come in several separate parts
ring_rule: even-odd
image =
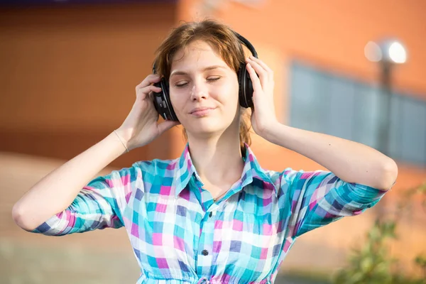
[[[170,70],[170,100],[188,136],[239,131],[239,84],[211,46],[195,40],[178,50]]]

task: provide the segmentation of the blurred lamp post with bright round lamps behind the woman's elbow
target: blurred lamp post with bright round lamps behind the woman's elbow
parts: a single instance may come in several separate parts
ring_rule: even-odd
[[[403,64],[407,60],[407,52],[402,43],[398,40],[382,40],[378,43],[370,41],[364,48],[366,58],[371,62],[378,62],[380,67],[380,97],[379,109],[380,116],[377,133],[376,146],[378,151],[385,155],[390,155],[389,133],[391,128],[391,102],[392,92],[392,71],[395,65]],[[378,204],[378,219],[384,216],[386,208],[386,199],[383,198],[381,204]]]

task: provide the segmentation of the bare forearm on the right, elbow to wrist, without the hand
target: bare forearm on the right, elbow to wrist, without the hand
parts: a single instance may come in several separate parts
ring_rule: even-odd
[[[398,175],[391,158],[361,143],[278,123],[266,131],[265,137],[315,160],[346,182],[388,190]]]

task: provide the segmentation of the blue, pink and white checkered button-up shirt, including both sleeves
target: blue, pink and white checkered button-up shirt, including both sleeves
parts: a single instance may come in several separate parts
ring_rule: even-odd
[[[137,283],[273,283],[297,236],[360,214],[386,192],[327,171],[263,170],[247,145],[244,164],[241,179],[214,202],[187,145],[178,159],[92,180],[33,232],[124,226],[141,267]]]

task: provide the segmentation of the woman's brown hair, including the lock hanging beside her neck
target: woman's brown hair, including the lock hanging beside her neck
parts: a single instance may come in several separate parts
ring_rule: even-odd
[[[169,80],[175,53],[195,40],[209,43],[222,60],[238,74],[239,67],[245,62],[242,45],[231,28],[211,19],[183,23],[178,28],[174,28],[156,50],[155,71],[163,75],[165,80]],[[240,111],[239,137],[241,151],[244,153],[244,143],[251,144],[249,133],[251,126],[246,109],[241,107]],[[185,129],[184,135],[187,138]]]

